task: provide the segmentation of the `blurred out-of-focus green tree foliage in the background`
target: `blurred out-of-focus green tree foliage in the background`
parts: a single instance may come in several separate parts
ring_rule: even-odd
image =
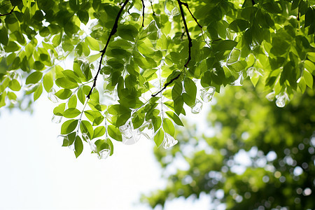
[[[155,149],[168,183],[143,201],[156,207],[207,193],[226,209],[314,209],[314,90],[280,109],[259,89],[226,88],[211,106],[208,135],[190,125],[176,135],[178,145]]]

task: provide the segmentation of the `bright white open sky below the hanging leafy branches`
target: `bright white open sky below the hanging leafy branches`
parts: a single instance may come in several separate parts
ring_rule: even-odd
[[[0,209],[149,209],[141,193],[165,186],[153,156],[153,141],[126,146],[98,160],[85,150],[78,159],[57,144],[61,124],[51,123],[55,104],[42,96],[34,113],[1,111]],[[170,209],[209,209],[206,195],[193,202],[179,198]]]

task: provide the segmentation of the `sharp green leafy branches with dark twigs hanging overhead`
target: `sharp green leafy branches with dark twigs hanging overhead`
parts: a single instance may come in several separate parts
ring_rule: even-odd
[[[10,0],[0,3],[0,107],[47,92],[63,146],[177,143],[214,92],[261,83],[283,107],[313,88],[314,0]]]

